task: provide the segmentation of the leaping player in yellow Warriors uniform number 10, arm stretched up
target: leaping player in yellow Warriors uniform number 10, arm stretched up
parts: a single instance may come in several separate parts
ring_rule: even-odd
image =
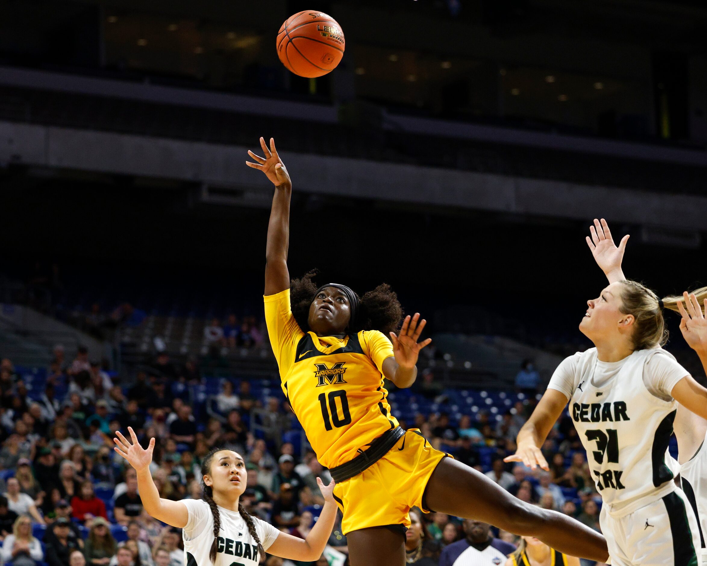
[[[419,506],[537,536],[590,560],[608,558],[604,537],[568,516],[525,504],[489,478],[433,449],[419,430],[391,415],[383,379],[409,387],[417,375],[419,314],[402,318],[397,296],[381,285],[359,299],[349,287],[317,288],[312,275],[290,281],[287,268],[292,183],[275,149],[248,154],[275,185],[267,233],[265,318],[282,389],[317,459],[337,483],[351,566],[402,566],[409,510]],[[322,255],[349,242],[317,233]],[[404,245],[404,242],[402,242]],[[365,265],[361,269],[365,269]],[[390,336],[390,340],[387,336]]]

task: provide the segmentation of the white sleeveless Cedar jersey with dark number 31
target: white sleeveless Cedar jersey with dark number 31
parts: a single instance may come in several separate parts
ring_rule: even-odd
[[[569,411],[606,504],[640,499],[674,477],[666,454],[677,403],[656,397],[643,383],[645,364],[659,351],[636,350],[601,387],[592,379],[596,348],[577,364]]]

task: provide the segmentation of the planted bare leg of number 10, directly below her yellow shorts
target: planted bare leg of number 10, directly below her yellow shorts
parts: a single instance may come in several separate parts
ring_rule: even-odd
[[[385,526],[351,531],[346,541],[351,566],[405,565],[405,537]]]

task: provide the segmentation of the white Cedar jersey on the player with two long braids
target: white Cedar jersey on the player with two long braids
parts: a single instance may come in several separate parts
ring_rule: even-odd
[[[209,551],[214,542],[214,516],[209,504],[201,499],[182,499],[187,505],[189,519],[182,530],[185,566],[211,566]],[[259,553],[255,539],[240,513],[218,507],[221,531],[217,539],[216,562],[214,566],[258,566]],[[274,526],[253,517],[255,532],[260,543],[267,550],[274,543],[280,531]]]

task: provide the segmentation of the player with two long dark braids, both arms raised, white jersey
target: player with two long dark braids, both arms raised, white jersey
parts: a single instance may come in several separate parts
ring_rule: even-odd
[[[238,452],[214,449],[204,456],[203,500],[170,501],[160,498],[150,473],[155,439],[150,439],[145,450],[132,427],[128,427],[128,432],[132,441],[115,432],[115,451],[135,468],[146,512],[158,521],[182,529],[185,566],[257,566],[266,551],[301,562],[313,562],[322,555],[337,516],[332,497],[334,482],[324,485],[317,478],[325,504],[317,524],[302,540],[245,511],[240,496],[245,491],[247,474]]]

